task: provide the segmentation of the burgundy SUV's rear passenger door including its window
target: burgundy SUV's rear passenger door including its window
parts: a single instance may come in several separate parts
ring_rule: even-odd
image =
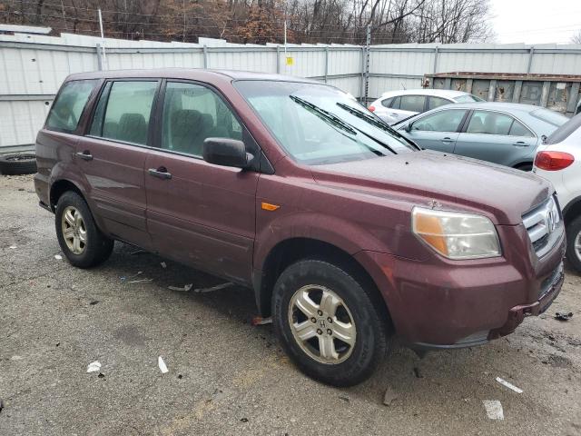
[[[75,156],[105,230],[145,249],[151,240],[143,171],[159,84],[155,79],[106,82]]]

